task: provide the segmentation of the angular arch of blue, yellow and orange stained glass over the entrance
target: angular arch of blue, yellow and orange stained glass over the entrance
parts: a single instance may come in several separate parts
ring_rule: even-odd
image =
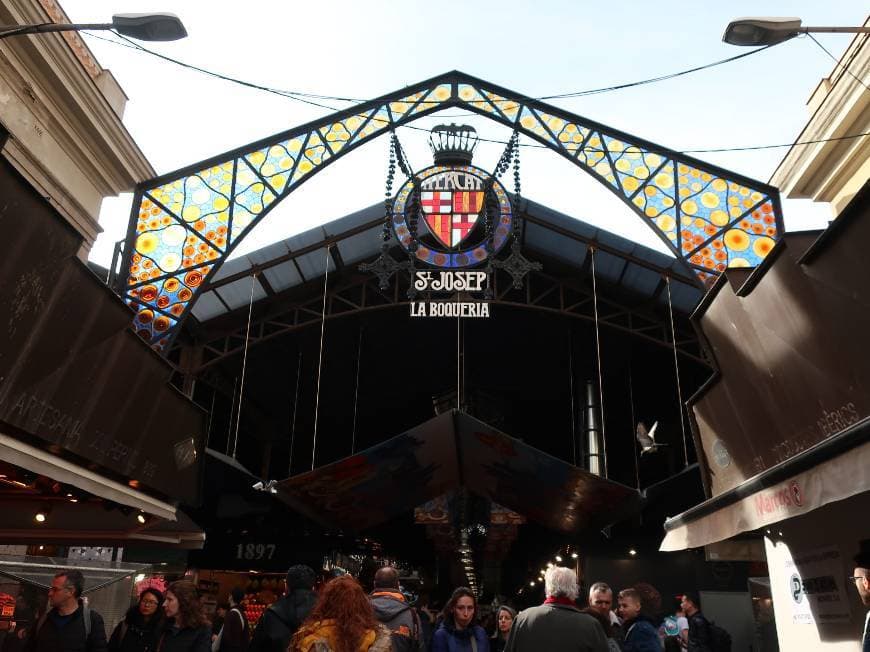
[[[135,330],[165,352],[203,283],[281,199],[374,137],[447,108],[507,125],[591,174],[699,284],[756,266],[783,231],[772,186],[454,71],[139,184],[116,288]]]

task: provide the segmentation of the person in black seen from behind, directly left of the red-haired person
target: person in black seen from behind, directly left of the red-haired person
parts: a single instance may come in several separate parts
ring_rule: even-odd
[[[314,607],[317,576],[299,564],[287,571],[287,593],[263,612],[248,652],[286,652],[290,639]]]

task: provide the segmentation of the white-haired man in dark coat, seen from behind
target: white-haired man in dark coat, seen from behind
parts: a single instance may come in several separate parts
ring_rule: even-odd
[[[547,599],[521,611],[514,620],[505,652],[607,652],[598,621],[577,608],[577,575],[551,566],[544,575]]]

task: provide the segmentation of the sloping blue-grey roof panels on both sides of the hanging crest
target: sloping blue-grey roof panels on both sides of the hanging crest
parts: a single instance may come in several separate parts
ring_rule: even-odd
[[[566,265],[585,269],[589,246],[595,247],[598,280],[620,285],[640,300],[667,302],[659,284],[671,279],[674,308],[690,313],[703,296],[697,277],[682,260],[627,238],[559,213],[530,200],[523,200],[524,248],[552,257]],[[310,231],[225,262],[203,288],[193,306],[193,315],[207,321],[248,305],[251,274],[258,272],[254,301],[265,299],[324,273],[324,247],[334,244],[328,259],[329,272],[355,266],[380,251],[383,204],[375,204]]]

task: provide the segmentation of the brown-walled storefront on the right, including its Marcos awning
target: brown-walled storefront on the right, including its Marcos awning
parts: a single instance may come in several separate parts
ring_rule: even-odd
[[[864,624],[847,578],[870,548],[868,208],[870,184],[823,233],[726,273],[695,316],[720,361],[690,401],[713,497],[669,519],[661,549],[763,539],[782,650],[855,650]]]

